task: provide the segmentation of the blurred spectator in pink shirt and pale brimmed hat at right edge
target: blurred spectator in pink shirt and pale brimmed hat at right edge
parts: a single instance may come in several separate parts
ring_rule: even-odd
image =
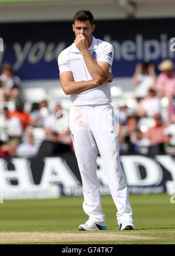
[[[171,100],[175,96],[175,72],[174,64],[171,60],[163,60],[158,65],[160,75],[157,77],[156,89],[158,95],[161,97],[166,96]]]

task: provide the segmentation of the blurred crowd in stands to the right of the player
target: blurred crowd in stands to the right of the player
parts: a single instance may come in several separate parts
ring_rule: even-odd
[[[155,73],[152,63],[136,65],[132,82],[135,111],[122,103],[119,114],[121,153],[166,154],[175,146],[175,72],[171,60],[163,60]]]

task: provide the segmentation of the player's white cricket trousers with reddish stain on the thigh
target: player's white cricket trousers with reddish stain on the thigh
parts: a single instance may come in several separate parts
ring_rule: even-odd
[[[111,196],[117,207],[117,222],[132,221],[128,188],[120,164],[113,106],[71,106],[69,126],[83,185],[83,210],[89,220],[106,226],[97,180],[98,149]]]

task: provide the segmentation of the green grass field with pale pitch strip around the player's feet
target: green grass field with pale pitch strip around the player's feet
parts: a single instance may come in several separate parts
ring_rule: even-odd
[[[130,195],[136,230],[119,231],[111,196],[102,196],[107,231],[78,231],[88,217],[82,197],[5,200],[0,244],[175,244],[175,204],[166,193]]]

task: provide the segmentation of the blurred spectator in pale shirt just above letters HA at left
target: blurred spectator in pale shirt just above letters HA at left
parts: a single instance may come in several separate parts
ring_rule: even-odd
[[[31,129],[26,129],[25,142],[19,144],[16,148],[17,157],[33,157],[38,152],[38,145],[34,144],[33,132]]]

